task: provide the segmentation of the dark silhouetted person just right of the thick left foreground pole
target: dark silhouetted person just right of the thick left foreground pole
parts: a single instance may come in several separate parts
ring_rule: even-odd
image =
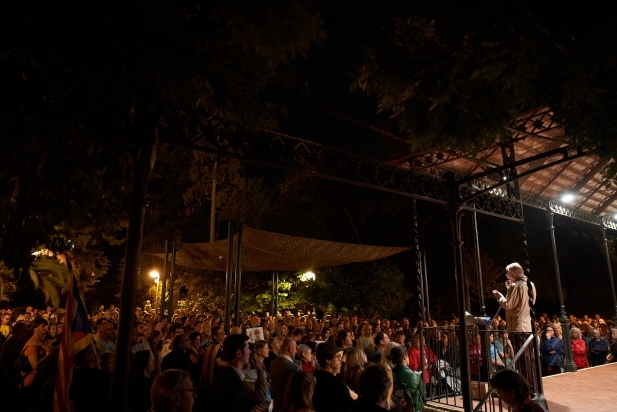
[[[133,355],[126,391],[130,412],[148,412],[150,410],[151,374],[153,371],[154,355],[152,355],[152,352],[140,350]]]

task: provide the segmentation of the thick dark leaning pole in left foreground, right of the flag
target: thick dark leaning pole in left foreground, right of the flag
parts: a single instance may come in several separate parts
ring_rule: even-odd
[[[128,371],[131,359],[131,338],[133,337],[135,301],[139,284],[139,267],[141,262],[141,246],[146,214],[146,190],[148,176],[154,168],[156,150],[158,147],[158,130],[155,127],[137,155],[133,175],[133,193],[129,226],[126,233],[126,248],[124,252],[124,269],[122,273],[122,292],[120,294],[120,318],[118,322],[118,341],[114,361],[115,372],[111,381],[109,394],[109,410],[126,410]]]

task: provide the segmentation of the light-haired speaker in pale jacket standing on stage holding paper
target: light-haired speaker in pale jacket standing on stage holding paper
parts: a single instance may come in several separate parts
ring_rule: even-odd
[[[499,306],[506,311],[506,321],[508,330],[526,333],[517,333],[513,336],[514,350],[517,351],[524,345],[529,333],[533,333],[533,325],[531,319],[531,306],[536,302],[536,288],[532,282],[525,276],[523,267],[518,263],[511,263],[506,266],[506,290],[508,291],[504,297],[497,290],[493,290],[493,296],[497,299]],[[531,348],[526,350],[518,360],[519,368],[523,373],[534,373],[536,357],[533,356]],[[531,389],[537,392],[536,387],[539,379],[528,376],[527,381],[531,385]],[[529,379],[534,378],[534,379]]]

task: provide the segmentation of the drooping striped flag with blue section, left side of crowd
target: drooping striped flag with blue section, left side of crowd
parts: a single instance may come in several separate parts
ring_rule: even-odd
[[[69,388],[73,380],[73,357],[92,344],[92,327],[86,306],[79,296],[75,277],[71,276],[66,299],[64,330],[58,348],[58,369],[54,393],[54,412],[70,411]]]

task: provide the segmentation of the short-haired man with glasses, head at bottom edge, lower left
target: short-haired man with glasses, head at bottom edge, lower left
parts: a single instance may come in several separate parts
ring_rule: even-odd
[[[169,369],[154,378],[150,390],[152,412],[192,412],[195,387],[189,373]]]

